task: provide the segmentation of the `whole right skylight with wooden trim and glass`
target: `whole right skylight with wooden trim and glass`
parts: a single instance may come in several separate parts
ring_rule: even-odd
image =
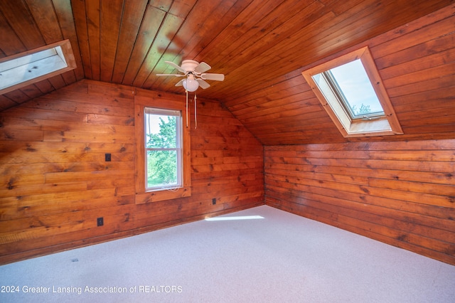
[[[368,48],[302,75],[344,137],[402,134]]]

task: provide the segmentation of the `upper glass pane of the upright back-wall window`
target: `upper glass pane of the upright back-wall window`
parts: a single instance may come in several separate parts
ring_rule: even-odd
[[[146,148],[176,148],[177,117],[146,115]]]

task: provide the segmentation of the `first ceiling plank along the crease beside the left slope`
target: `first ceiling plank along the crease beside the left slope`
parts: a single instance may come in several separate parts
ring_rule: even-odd
[[[88,40],[87,16],[85,15],[85,1],[71,1],[73,18],[75,22],[77,45],[82,59],[82,68],[85,78],[92,79],[92,63],[90,59],[90,46]]]

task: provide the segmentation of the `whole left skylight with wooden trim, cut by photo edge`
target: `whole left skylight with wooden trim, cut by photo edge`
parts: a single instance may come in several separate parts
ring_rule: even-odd
[[[76,68],[69,40],[0,59],[0,94]]]

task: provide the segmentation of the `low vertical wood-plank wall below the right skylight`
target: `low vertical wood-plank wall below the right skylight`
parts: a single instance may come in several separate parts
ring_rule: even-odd
[[[269,146],[266,204],[455,265],[455,139]]]

